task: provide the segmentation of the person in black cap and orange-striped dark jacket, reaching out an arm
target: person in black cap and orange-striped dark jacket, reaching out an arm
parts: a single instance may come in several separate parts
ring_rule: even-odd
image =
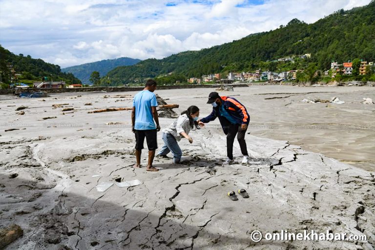
[[[198,121],[198,124],[204,126],[219,118],[224,133],[227,135],[227,156],[225,164],[233,163],[233,142],[237,134],[237,140],[243,154],[242,164],[248,163],[248,149],[246,147],[245,134],[250,123],[250,116],[245,106],[232,97],[220,97],[217,92],[211,92],[208,96],[208,104],[212,104],[212,112],[207,117]]]

